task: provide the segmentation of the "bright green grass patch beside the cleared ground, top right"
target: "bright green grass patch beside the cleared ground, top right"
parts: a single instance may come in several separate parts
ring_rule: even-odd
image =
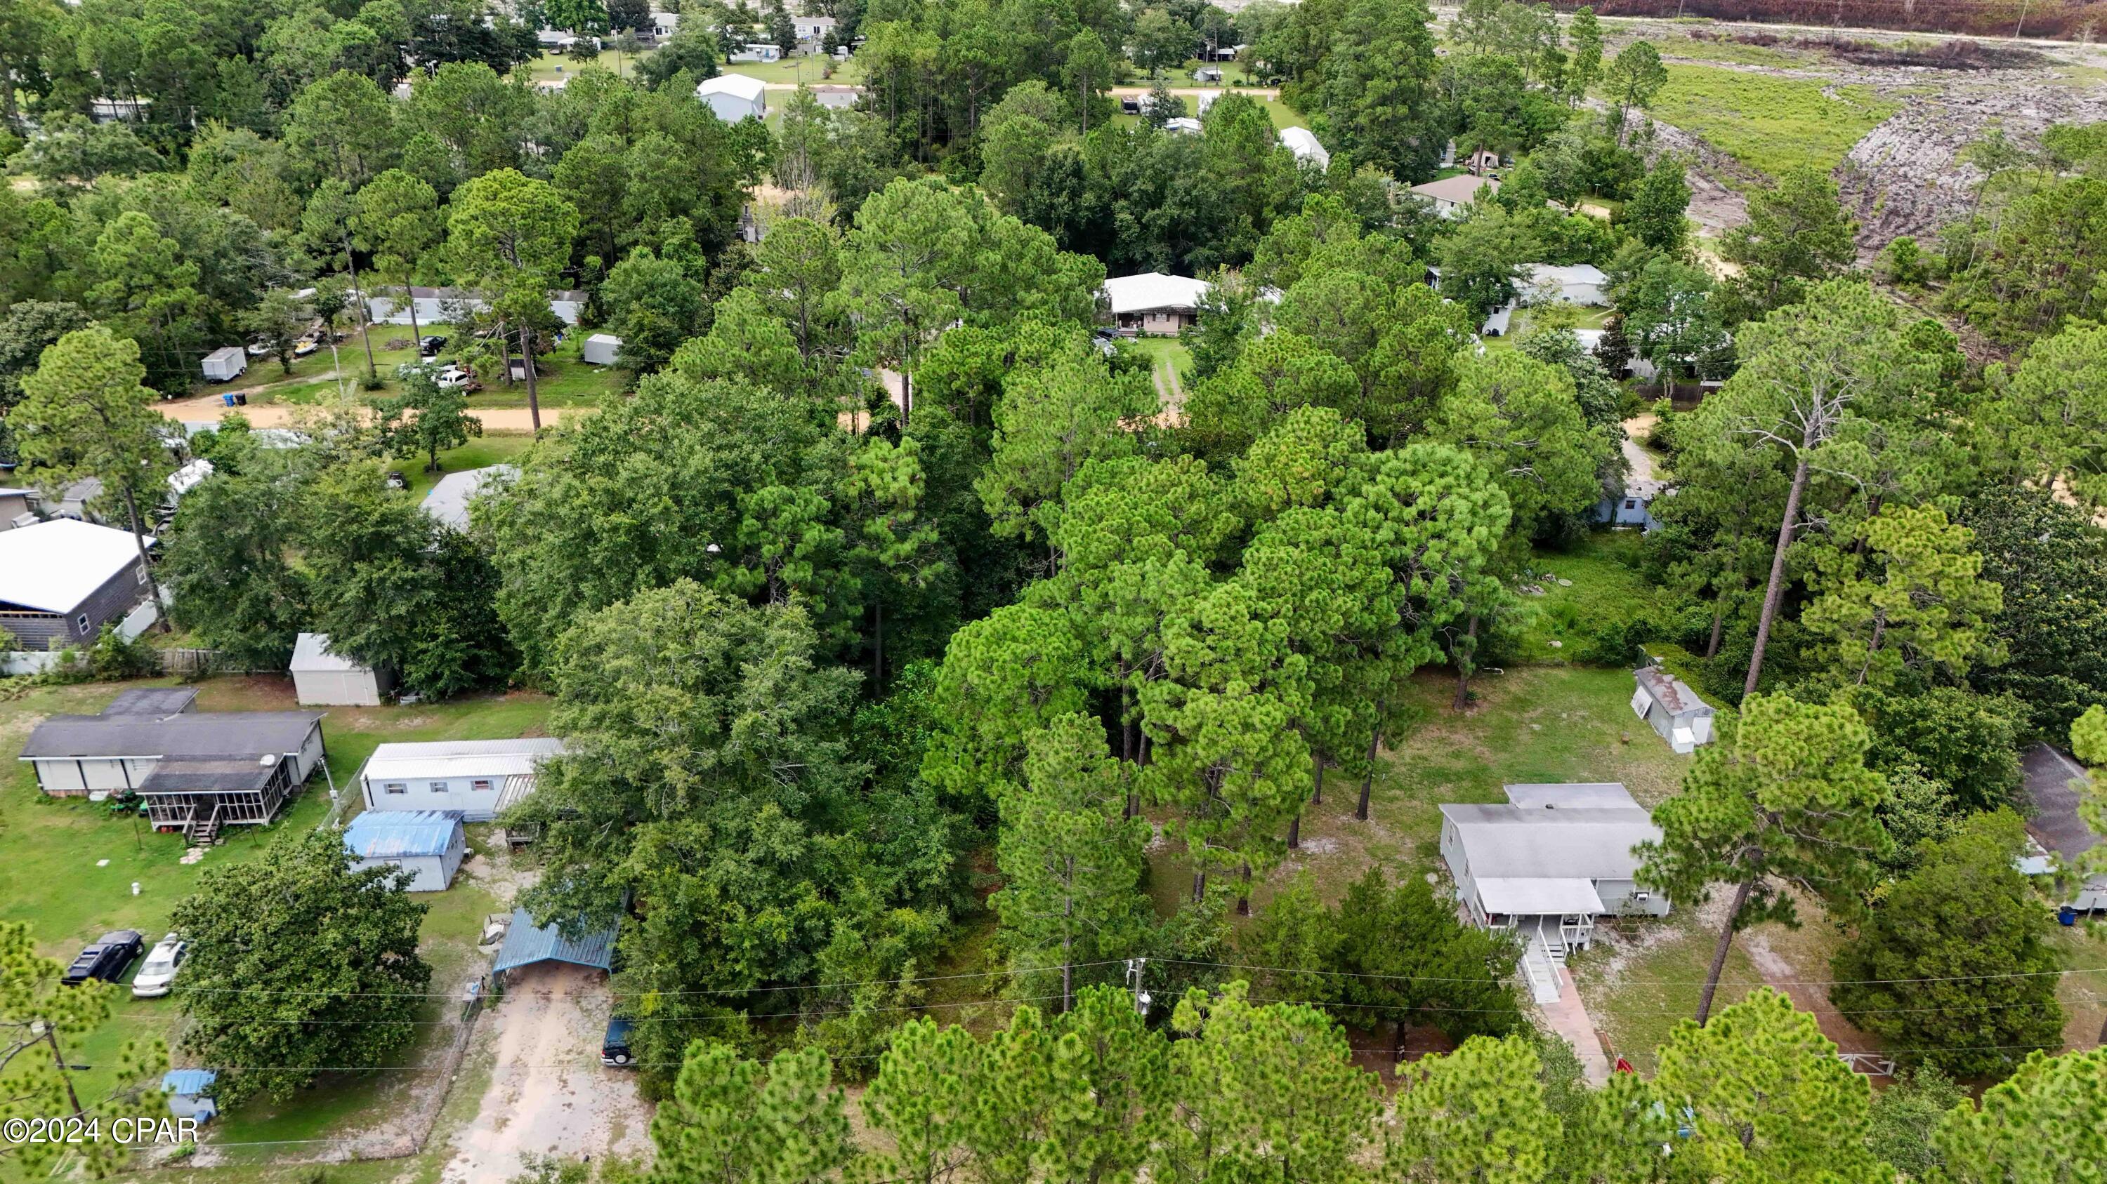
[[[1713,65],[1669,65],[1654,114],[1719,152],[1778,177],[1795,166],[1835,169],[1850,145],[1901,110],[1863,86],[1774,78]]]

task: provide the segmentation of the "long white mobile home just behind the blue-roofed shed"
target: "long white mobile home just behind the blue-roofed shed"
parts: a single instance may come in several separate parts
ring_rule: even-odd
[[[369,811],[457,811],[466,822],[491,822],[533,792],[537,769],[563,754],[552,737],[436,739],[381,744],[358,771]]]

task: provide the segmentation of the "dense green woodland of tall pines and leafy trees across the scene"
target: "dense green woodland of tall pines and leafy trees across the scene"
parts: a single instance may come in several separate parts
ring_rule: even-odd
[[[466,533],[381,476],[466,438],[457,394],[348,400],[295,449],[230,417],[188,442],[215,474],[156,581],[242,664],[316,630],[424,695],[554,695],[571,752],[512,820],[541,828],[527,906],[622,921],[666,1180],[862,1171],[836,1079],[898,1144],[872,1167],[927,1182],[2052,1180],[2090,1146],[2103,1066],[2050,1055],[2052,921],[2010,862],[2019,746],[2107,765],[2101,126],[1978,145],[1972,217],[1871,274],[1835,183],[1778,177],[1715,244],[1721,280],[1652,143],[1658,53],[1606,57],[1587,8],[872,0],[834,13],[866,38],[858,107],[725,126],[693,84],[767,13],[691,6],[632,78],[541,93],[514,70],[533,25],[634,15],[0,4],[21,478],[97,476],[147,527],[183,459],[154,402],[223,341],[356,329],[354,284],[480,293],[455,329],[493,362],[548,348],[550,289],[622,337],[628,390],[541,430]],[[1110,84],[1214,44],[1283,80],[1327,171],[1237,93],[1199,135],[1163,103],[1112,118]],[[1448,141],[1517,160],[1454,221],[1401,192]],[[788,202],[748,244],[759,181]],[[1601,348],[1555,308],[1483,348],[1547,261],[1610,274]],[[1180,415],[1094,339],[1100,284],[1138,270],[1216,280]],[[1658,388],[1622,381],[1635,356]],[[1692,379],[1724,386],[1652,402]],[[1667,607],[1593,624],[1580,657],[1646,647],[1738,708],[1646,879],[1679,908],[1724,893],[1721,959],[1795,910],[1854,927],[1833,1003],[1913,1070],[1877,1102],[1812,1018],[1711,988],[1654,1079],[1589,1091],[1528,1034],[1517,950],[1439,889],[1275,883],[1317,794],[1367,817],[1407,680],[1439,672],[1464,712],[1513,659],[1521,584],[1620,489],[1639,411],[1677,485],[1643,546]],[[1193,868],[1169,916],[1157,834]],[[377,891],[341,864],[287,845],[209,879],[185,927],[238,925],[274,876]],[[1037,1007],[988,1039],[910,1020],[988,910],[990,994]],[[341,992],[379,959],[358,990],[415,990],[405,925],[287,973]],[[223,1074],[228,1102],[407,1041],[400,1009],[352,1041],[343,999],[192,978],[225,988],[183,996],[188,1051],[276,1066]],[[251,1022],[299,1007],[308,1028]],[[1386,1100],[1338,1024],[1460,1049]],[[1978,1110],[1949,1079],[2004,1085]]]

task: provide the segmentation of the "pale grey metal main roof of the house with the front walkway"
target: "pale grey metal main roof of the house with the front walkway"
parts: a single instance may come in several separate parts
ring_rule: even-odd
[[[1629,881],[1639,868],[1633,847],[1658,841],[1643,809],[1523,809],[1513,805],[1443,805],[1456,826],[1471,876]]]

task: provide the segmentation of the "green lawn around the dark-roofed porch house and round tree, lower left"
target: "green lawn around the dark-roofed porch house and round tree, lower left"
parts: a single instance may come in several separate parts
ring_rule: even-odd
[[[131,685],[173,685],[160,678]],[[318,777],[293,807],[265,828],[230,828],[228,841],[198,864],[181,864],[183,838],[154,834],[133,817],[112,817],[84,798],[46,798],[36,790],[29,765],[13,756],[36,723],[48,714],[99,712],[124,685],[40,687],[0,704],[0,919],[25,921],[38,948],[55,959],[72,954],[107,929],[139,929],[158,940],[175,904],[196,889],[200,876],[219,866],[257,860],[270,843],[314,830],[329,813],[329,782]],[[276,676],[213,678],[198,685],[198,710],[291,710],[291,680]],[[544,695],[512,693],[426,704],[413,708],[329,708],[322,735],[329,771],[350,798],[352,775],[383,739],[497,739],[537,731],[548,721]],[[474,828],[470,862],[474,874],[426,897],[424,952],[434,969],[434,988],[453,990],[472,973],[474,938],[483,914],[495,910],[485,868],[508,860],[504,843]],[[133,895],[131,885],[139,885]],[[434,1001],[434,1007],[438,1001]],[[436,1011],[434,1011],[436,1018]],[[440,1028],[426,1028],[426,1043]],[[93,1032],[80,1049],[93,1068],[78,1077],[84,1096],[101,1093],[114,1081],[118,1049],[133,1037],[175,1039],[177,1009],[169,999],[120,996],[116,1015]],[[419,1045],[405,1064],[430,1055]],[[183,1064],[177,1053],[177,1064]],[[394,1074],[407,1079],[411,1074]],[[324,1131],[377,1123],[400,1108],[409,1081],[373,1074],[329,1081],[284,1106],[249,1106],[219,1125],[223,1140],[299,1140]]]

